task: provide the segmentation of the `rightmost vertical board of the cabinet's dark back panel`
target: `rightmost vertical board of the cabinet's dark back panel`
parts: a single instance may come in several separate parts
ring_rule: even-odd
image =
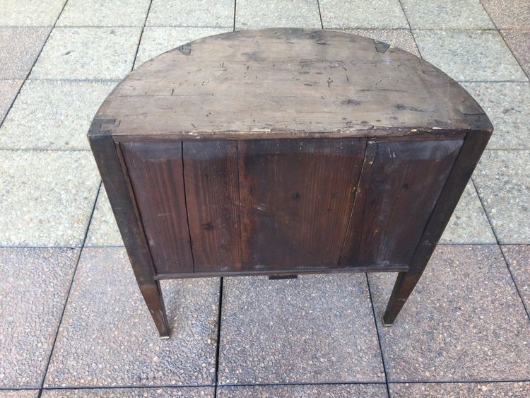
[[[341,264],[408,264],[463,140],[369,141]]]

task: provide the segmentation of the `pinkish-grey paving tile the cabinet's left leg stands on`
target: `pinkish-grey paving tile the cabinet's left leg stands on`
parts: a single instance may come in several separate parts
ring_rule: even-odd
[[[219,280],[162,287],[168,340],[158,337],[125,250],[83,249],[45,386],[213,385]]]

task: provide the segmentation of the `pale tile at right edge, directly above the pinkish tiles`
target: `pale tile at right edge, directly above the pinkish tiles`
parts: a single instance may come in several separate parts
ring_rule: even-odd
[[[500,243],[530,243],[530,151],[485,151],[473,174]]]

